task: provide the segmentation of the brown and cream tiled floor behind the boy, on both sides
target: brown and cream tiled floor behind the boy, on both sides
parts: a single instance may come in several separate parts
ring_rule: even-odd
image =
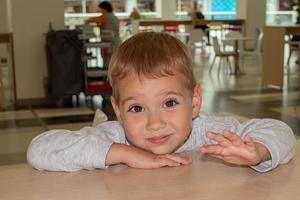
[[[211,50],[195,53],[195,74],[203,90],[202,111],[215,115],[232,115],[241,122],[250,118],[271,117],[289,124],[300,136],[299,74],[296,64],[285,74],[283,90],[261,87],[260,67],[253,59],[243,61],[244,74],[233,76],[216,66],[208,72],[212,60]],[[294,63],[292,58],[291,63]],[[107,99],[109,102],[109,99]],[[84,106],[67,108],[33,108],[0,112],[0,165],[26,161],[26,148],[30,140],[49,129],[78,130],[91,126],[94,109]],[[103,108],[109,120],[114,119],[111,105]]]

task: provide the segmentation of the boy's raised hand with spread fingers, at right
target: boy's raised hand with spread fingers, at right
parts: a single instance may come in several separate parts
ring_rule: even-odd
[[[200,148],[201,152],[213,157],[220,158],[228,163],[238,165],[257,165],[263,160],[271,159],[267,148],[246,136],[244,141],[230,131],[222,134],[207,133],[207,137],[217,144],[205,145]]]

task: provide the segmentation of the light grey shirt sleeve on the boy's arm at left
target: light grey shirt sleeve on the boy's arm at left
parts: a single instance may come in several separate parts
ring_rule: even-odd
[[[27,161],[38,170],[103,169],[113,143],[125,143],[125,136],[117,122],[106,122],[79,131],[50,130],[31,141]]]

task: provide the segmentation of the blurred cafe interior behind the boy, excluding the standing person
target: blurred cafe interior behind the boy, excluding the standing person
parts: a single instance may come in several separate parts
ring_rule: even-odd
[[[201,112],[233,116],[241,123],[278,119],[299,138],[300,1],[110,2],[122,42],[136,33],[155,31],[187,45],[202,89]],[[79,130],[116,120],[106,80],[109,61],[100,53],[115,35],[85,24],[100,15],[98,4],[98,0],[0,1],[0,165],[26,163],[30,141],[44,131]],[[194,5],[204,18],[192,17]],[[131,17],[134,9],[137,18]],[[64,63],[53,50],[55,33],[65,38],[77,34],[72,39],[79,50],[69,46],[77,52],[71,62],[80,73],[77,82],[61,81],[63,68],[70,66],[55,67],[54,60]]]

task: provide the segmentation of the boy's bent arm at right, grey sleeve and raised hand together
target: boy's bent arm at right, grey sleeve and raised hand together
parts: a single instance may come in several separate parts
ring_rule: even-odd
[[[254,119],[241,125],[232,118],[227,119],[224,118],[224,129],[207,134],[214,142],[201,148],[204,153],[227,162],[250,165],[259,172],[274,169],[294,156],[295,137],[285,123],[274,119]]]

